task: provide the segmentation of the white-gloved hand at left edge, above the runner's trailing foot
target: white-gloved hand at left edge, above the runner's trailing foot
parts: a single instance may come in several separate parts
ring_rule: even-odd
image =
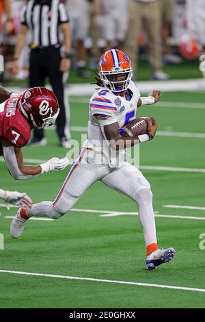
[[[33,201],[26,193],[18,193],[18,191],[5,191],[5,202],[19,207],[31,208],[33,205]]]

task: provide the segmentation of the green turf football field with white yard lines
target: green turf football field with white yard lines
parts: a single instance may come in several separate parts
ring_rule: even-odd
[[[88,97],[70,97],[72,138],[78,140],[83,132],[75,127],[87,125],[87,101]],[[160,106],[143,107],[138,113],[155,116],[159,123],[159,135],[141,145],[140,164],[152,166],[142,171],[152,185],[156,215],[165,215],[156,216],[159,247],[176,249],[173,262],[146,271],[141,226],[136,215],[128,214],[137,212],[136,204],[100,182],[74,206],[81,211],[70,211],[57,221],[30,220],[18,240],[10,237],[11,219],[5,218],[13,216],[16,209],[1,207],[0,233],[5,249],[0,250],[0,270],[85,280],[0,273],[0,308],[204,308],[205,249],[199,245],[200,234],[205,233],[205,212],[164,207],[205,207],[205,173],[193,172],[205,169],[203,103],[204,92],[165,92]],[[55,131],[48,130],[46,136],[49,144],[25,147],[25,158],[46,160],[65,155],[66,149],[57,147]],[[156,166],[169,167],[169,171],[156,170]],[[68,172],[15,182],[3,162],[0,171],[1,188],[26,191],[34,202],[53,200]],[[102,216],[106,214],[103,211],[126,214]]]

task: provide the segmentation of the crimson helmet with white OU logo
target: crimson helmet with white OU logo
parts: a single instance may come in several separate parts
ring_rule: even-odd
[[[20,97],[19,108],[26,119],[38,129],[53,125],[59,114],[57,97],[45,87],[25,90]]]

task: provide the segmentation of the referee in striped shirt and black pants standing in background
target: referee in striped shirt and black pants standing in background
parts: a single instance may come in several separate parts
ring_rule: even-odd
[[[70,25],[64,3],[59,0],[29,0],[23,8],[20,32],[14,50],[14,73],[18,73],[18,58],[27,40],[31,48],[29,59],[29,87],[44,86],[49,77],[59,101],[56,126],[60,145],[66,147],[70,138],[68,114],[64,103],[64,84],[70,69]],[[63,49],[63,51],[62,51]],[[34,129],[31,144],[45,145],[43,129]]]

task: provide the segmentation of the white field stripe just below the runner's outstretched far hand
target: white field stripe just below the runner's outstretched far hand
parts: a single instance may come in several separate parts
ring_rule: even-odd
[[[90,98],[86,97],[69,97],[71,103],[87,103],[89,104]],[[204,103],[189,103],[181,101],[159,101],[156,103],[156,108],[160,106],[161,108],[199,108],[205,109]]]

